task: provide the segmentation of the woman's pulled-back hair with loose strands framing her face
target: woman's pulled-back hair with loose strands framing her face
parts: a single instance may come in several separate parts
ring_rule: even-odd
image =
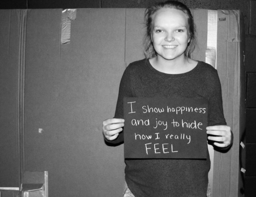
[[[191,14],[191,11],[189,10],[189,8],[184,5],[183,3],[179,2],[179,1],[165,1],[165,2],[161,2],[158,4],[153,5],[150,8],[147,8],[145,11],[145,16],[144,16],[144,20],[145,20],[145,26],[147,28],[146,34],[144,36],[144,42],[143,42],[143,46],[144,46],[144,55],[146,58],[153,58],[155,56],[157,56],[157,53],[154,49],[153,46],[153,42],[152,42],[152,31],[153,31],[153,16],[154,14],[162,8],[174,8],[174,9],[178,9],[181,10],[182,12],[184,12],[187,17],[188,17],[188,32],[189,32],[189,38],[190,38],[190,42],[188,43],[187,49],[185,50],[185,54],[187,57],[190,57],[191,53],[193,52],[193,50],[195,49],[196,46],[196,38],[195,38],[195,24],[194,24],[194,19],[193,16]]]

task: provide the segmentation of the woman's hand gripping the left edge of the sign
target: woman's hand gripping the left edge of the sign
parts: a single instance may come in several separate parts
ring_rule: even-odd
[[[122,127],[124,127],[124,119],[120,118],[106,119],[102,123],[103,134],[108,140],[116,139],[119,133],[123,131]]]

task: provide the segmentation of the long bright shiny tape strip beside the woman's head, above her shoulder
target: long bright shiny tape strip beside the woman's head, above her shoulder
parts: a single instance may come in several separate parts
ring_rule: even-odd
[[[217,69],[217,28],[218,11],[208,10],[206,63]]]

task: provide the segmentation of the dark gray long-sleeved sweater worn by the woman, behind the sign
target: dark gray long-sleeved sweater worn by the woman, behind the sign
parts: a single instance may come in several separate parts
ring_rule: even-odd
[[[133,62],[120,82],[115,118],[123,118],[124,97],[205,98],[208,125],[226,125],[217,70],[204,62],[182,74],[158,72],[148,59]],[[123,132],[108,142],[122,143]],[[208,151],[207,159],[125,159],[125,163],[125,180],[136,197],[206,197]]]

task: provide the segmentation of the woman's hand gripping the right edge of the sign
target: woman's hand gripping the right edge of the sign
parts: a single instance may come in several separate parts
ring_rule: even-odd
[[[206,132],[209,135],[208,140],[215,141],[214,145],[224,148],[230,145],[231,143],[231,129],[227,125],[215,125],[206,127]]]

